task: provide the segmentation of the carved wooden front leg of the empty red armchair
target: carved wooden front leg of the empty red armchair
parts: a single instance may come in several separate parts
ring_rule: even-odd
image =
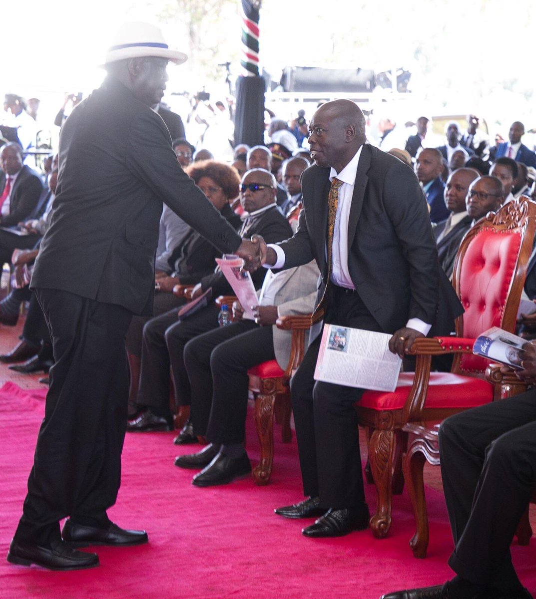
[[[377,539],[383,539],[391,528],[392,467],[395,452],[395,431],[375,430],[369,444],[369,461],[376,485],[376,513],[371,518],[371,529]]]

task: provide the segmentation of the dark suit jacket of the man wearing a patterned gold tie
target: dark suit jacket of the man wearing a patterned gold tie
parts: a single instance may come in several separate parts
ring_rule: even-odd
[[[326,232],[329,168],[302,175],[303,210],[290,240],[280,245],[284,268],[315,259],[322,297],[327,278]],[[384,332],[409,318],[434,325],[430,335],[451,331],[463,312],[439,267],[426,200],[417,177],[394,156],[365,144],[357,168],[348,222],[348,269],[360,298]],[[311,331],[311,338],[320,328]]]

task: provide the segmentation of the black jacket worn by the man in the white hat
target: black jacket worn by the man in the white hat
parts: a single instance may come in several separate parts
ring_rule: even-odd
[[[162,201],[219,252],[239,246],[183,172],[161,117],[107,77],[61,129],[56,198],[32,286],[152,314]]]

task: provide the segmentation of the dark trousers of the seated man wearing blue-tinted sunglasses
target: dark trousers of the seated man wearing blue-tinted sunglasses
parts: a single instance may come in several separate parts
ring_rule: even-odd
[[[170,366],[175,404],[189,406],[190,382],[184,365],[184,347],[196,335],[218,326],[219,307],[209,304],[179,321],[173,308],[149,320],[143,328],[138,404],[158,415],[169,415]]]

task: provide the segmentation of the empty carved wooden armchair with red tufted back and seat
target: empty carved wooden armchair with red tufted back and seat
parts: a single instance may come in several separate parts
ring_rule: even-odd
[[[526,197],[481,219],[466,234],[454,263],[453,285],[465,308],[456,322],[456,337],[417,339],[411,352],[417,355],[415,374],[402,373],[393,393],[366,391],[356,404],[360,424],[369,429],[369,463],[378,500],[371,528],[376,537],[389,533],[393,486],[402,491],[403,427],[408,419],[441,422],[519,392],[517,379],[498,386],[487,382],[489,361],[472,355],[472,344],[491,326],[514,331],[535,225],[536,203]],[[451,372],[430,373],[432,356],[445,353],[454,354]]]

